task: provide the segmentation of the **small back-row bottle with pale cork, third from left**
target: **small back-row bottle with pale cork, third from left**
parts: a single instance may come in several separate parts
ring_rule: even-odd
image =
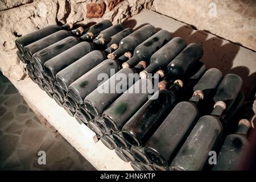
[[[112,53],[115,49],[118,48],[118,44],[120,43],[120,41],[125,38],[126,36],[130,35],[133,32],[133,29],[131,28],[126,28],[125,30],[118,32],[117,34],[113,35],[110,38],[110,42],[108,44],[106,44],[106,46],[108,47],[107,49],[105,49],[105,52],[107,53]]]

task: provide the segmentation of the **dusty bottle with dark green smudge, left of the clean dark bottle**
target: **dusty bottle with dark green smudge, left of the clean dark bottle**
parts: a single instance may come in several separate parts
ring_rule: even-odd
[[[153,92],[154,85],[150,79],[140,79],[135,82],[102,113],[106,125],[113,131],[121,130]]]

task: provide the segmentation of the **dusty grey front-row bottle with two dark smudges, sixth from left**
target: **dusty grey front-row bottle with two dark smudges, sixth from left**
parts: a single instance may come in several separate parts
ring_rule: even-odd
[[[120,68],[121,65],[118,60],[105,60],[74,81],[69,86],[68,92],[73,97],[73,100],[79,104],[83,104],[85,97],[100,86],[100,84],[104,83],[101,78],[98,78],[100,73],[102,75],[105,74],[107,77],[111,77],[118,72]]]

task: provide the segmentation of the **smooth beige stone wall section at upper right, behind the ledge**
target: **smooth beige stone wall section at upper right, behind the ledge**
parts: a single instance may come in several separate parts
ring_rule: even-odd
[[[255,0],[154,0],[152,9],[256,51]]]

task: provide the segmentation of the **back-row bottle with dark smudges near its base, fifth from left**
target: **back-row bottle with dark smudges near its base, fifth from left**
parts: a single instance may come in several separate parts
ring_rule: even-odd
[[[123,68],[134,67],[139,61],[149,62],[150,57],[171,40],[170,32],[160,30],[134,49],[133,57],[122,64]],[[171,51],[171,50],[170,50]]]

